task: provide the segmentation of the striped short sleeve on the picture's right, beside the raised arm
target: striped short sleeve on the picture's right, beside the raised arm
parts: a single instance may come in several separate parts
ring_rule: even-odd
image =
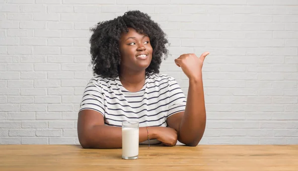
[[[177,81],[170,77],[169,80],[169,107],[167,117],[184,112],[186,107],[186,97]]]

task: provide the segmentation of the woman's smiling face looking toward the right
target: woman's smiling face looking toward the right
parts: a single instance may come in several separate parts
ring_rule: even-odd
[[[122,69],[143,71],[149,66],[153,50],[147,35],[129,28],[129,32],[122,33],[119,43]]]

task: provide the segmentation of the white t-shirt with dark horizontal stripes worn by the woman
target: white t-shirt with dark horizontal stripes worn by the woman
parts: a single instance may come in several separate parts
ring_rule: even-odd
[[[104,116],[105,125],[122,126],[122,121],[139,121],[139,126],[167,126],[166,119],[185,110],[186,98],[173,77],[153,74],[143,88],[130,92],[119,80],[95,76],[83,93],[80,109]]]

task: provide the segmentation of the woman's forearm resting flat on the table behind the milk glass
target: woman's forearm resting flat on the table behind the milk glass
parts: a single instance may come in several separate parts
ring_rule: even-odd
[[[153,127],[149,127],[150,139],[155,139],[156,134]],[[122,148],[122,128],[108,125],[95,125],[79,138],[83,148]],[[146,127],[139,129],[139,142],[148,140]]]

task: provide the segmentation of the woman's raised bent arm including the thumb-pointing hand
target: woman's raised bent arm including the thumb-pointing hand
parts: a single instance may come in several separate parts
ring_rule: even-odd
[[[188,97],[185,111],[173,114],[167,122],[178,132],[178,141],[189,146],[197,146],[203,137],[206,127],[206,109],[202,79],[202,66],[205,57],[185,54],[175,62],[189,78]]]

